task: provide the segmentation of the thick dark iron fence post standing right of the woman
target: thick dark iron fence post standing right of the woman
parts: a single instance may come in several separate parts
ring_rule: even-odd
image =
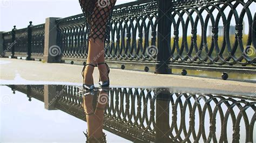
[[[172,70],[168,66],[170,58],[170,40],[171,40],[171,20],[170,9],[172,2],[158,0],[158,54],[156,62],[156,74],[171,74]]]

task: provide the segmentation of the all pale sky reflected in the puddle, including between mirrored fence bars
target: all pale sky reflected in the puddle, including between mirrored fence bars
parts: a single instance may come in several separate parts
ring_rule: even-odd
[[[123,91],[123,90],[122,90]],[[153,91],[149,91],[150,94],[148,93],[147,90],[141,90],[138,89],[136,91],[134,88],[130,90],[130,88],[127,88],[126,91],[131,91],[128,96],[129,101],[132,101],[132,97],[134,98],[134,105],[132,102],[129,102],[129,106],[135,106],[134,107],[134,112],[138,116],[138,114],[145,114],[148,118],[150,118],[151,115],[151,103],[154,104],[156,107],[157,104],[169,104],[169,113],[170,113],[170,120],[169,124],[172,124],[172,112],[173,112],[173,106],[172,103],[168,103],[167,101],[160,101],[157,100],[156,102],[150,102],[147,101],[147,106],[145,107],[145,101],[142,100],[143,108],[141,111],[143,112],[138,112],[138,97],[139,95],[148,95],[153,98],[153,96],[156,96],[159,91],[155,91],[155,94]],[[66,114],[63,111],[55,110],[55,111],[48,111],[44,109],[44,103],[41,101],[37,101],[37,99],[32,98],[32,102],[28,101],[28,98],[26,95],[22,94],[19,91],[16,91],[16,94],[12,94],[12,91],[9,87],[4,87],[0,86],[0,142],[5,142],[5,141],[31,141],[31,142],[37,142],[37,141],[43,141],[43,142],[50,142],[50,141],[57,141],[57,142],[83,142],[84,141],[84,135],[82,131],[86,131],[87,124],[85,121],[82,121],[80,119],[77,119],[76,117],[70,116]],[[125,95],[123,95],[121,92],[118,92],[118,95],[116,95],[117,92],[114,92],[113,99],[116,99],[118,97],[118,101],[122,101],[122,97],[124,96],[123,101],[126,101]],[[144,93],[144,94],[143,94]],[[191,95],[191,94],[190,94]],[[174,102],[178,101],[178,97],[180,94],[173,94],[172,99]],[[198,94],[196,94],[198,97]],[[216,96],[216,95],[213,95]],[[225,96],[224,96],[225,97]],[[227,97],[225,97],[227,98]],[[181,96],[181,104],[184,105],[185,103],[185,97],[184,95]],[[236,101],[240,101],[238,98],[233,98]],[[189,101],[194,104],[194,100],[191,98]],[[118,109],[123,106],[123,109],[127,106],[127,104],[123,103],[118,103],[114,101],[113,106],[118,106]],[[201,99],[199,101],[201,108],[203,109],[205,105],[204,99]],[[176,103],[177,104],[177,103]],[[209,105],[212,107],[212,110],[216,106],[214,102],[210,102]],[[146,113],[144,111],[144,108],[146,108]],[[224,114],[227,112],[227,107],[224,104],[221,104],[221,109],[223,110]],[[183,109],[184,110],[184,109]],[[166,110],[168,111],[168,110]],[[190,126],[190,111],[188,110],[188,105],[186,106],[186,113],[185,116],[181,114],[181,109],[180,106],[177,106],[177,125],[180,126],[181,120],[184,118],[185,121],[185,126],[188,130],[188,127]],[[233,108],[234,114],[237,117],[239,113],[239,109],[237,106]],[[131,112],[131,111],[130,111]],[[154,112],[156,113],[156,108],[154,108]],[[250,122],[253,116],[253,110],[252,108],[248,108],[246,110],[246,115],[248,117],[248,121]],[[116,115],[118,116],[118,115]],[[122,117],[122,115],[120,115]],[[143,115],[142,115],[143,116]],[[199,126],[200,126],[200,121],[199,121],[199,112],[196,110],[194,113],[195,116],[195,130],[196,132],[199,131]],[[154,116],[155,120],[156,116]],[[127,116],[126,116],[127,119]],[[159,118],[158,118],[159,119]],[[128,120],[128,119],[127,119]],[[160,119],[161,120],[161,119]],[[210,134],[210,115],[206,111],[205,115],[205,123],[204,123],[204,128],[205,128],[205,133],[206,136]],[[132,123],[134,123],[134,116],[131,118]],[[139,121],[140,123],[140,121]],[[221,120],[220,120],[220,115],[217,113],[216,117],[216,137],[217,139],[220,138],[220,131],[221,131]],[[147,126],[147,124],[144,121],[144,126]],[[167,123],[166,123],[167,125]],[[153,128],[153,125],[151,124],[151,127]],[[227,139],[228,142],[232,142],[232,134],[233,134],[233,124],[231,117],[228,118],[227,121]],[[240,122],[240,142],[245,142],[245,122],[244,118],[242,118]],[[117,135],[114,135],[112,133],[109,133],[107,131],[104,131],[107,134],[107,142],[127,142],[127,140],[118,137]],[[253,132],[256,132],[256,125],[254,125]],[[175,131],[172,132],[173,135],[175,135]],[[181,138],[185,138],[184,134],[181,134]],[[191,137],[192,138],[192,137]],[[256,136],[253,137],[254,140],[256,140]],[[200,138],[199,142],[203,142],[203,138]]]

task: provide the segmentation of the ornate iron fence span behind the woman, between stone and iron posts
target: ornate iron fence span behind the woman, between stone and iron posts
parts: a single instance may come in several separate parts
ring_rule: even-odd
[[[147,9],[147,10],[145,10]],[[114,8],[111,22],[111,41],[106,42],[106,58],[111,60],[152,60],[143,47],[156,45],[157,3],[133,2]],[[148,20],[148,22],[146,22]],[[57,19],[58,46],[63,58],[87,58],[85,18],[76,15]],[[140,23],[143,23],[140,24]],[[152,31],[152,33],[149,32]],[[145,32],[145,33],[143,33]],[[152,40],[150,35],[152,34]],[[146,37],[143,43],[143,36]],[[138,39],[139,38],[139,39]],[[151,43],[150,43],[151,41]]]

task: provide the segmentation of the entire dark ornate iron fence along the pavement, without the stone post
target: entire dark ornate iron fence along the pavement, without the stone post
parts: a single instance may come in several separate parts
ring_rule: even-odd
[[[144,0],[117,5],[110,24],[110,40],[105,44],[106,60],[122,64],[159,63],[158,67],[166,65],[167,68],[244,69],[247,66],[255,74],[256,11],[253,6],[252,0]],[[84,16],[59,18],[56,27],[55,46],[60,49],[60,59],[85,60],[88,43]],[[30,28],[31,35],[28,35],[29,28],[15,30],[17,44],[12,48],[17,54],[43,56],[44,40],[47,40],[44,24]],[[11,32],[3,33],[4,49],[14,42],[10,35]],[[31,52],[28,51],[30,44]]]

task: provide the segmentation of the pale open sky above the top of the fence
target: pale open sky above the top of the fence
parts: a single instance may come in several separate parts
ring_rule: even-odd
[[[134,0],[117,0],[117,4]],[[117,5],[116,4],[116,5]],[[69,17],[82,13],[78,0],[0,0],[0,31],[45,23],[47,17]]]

